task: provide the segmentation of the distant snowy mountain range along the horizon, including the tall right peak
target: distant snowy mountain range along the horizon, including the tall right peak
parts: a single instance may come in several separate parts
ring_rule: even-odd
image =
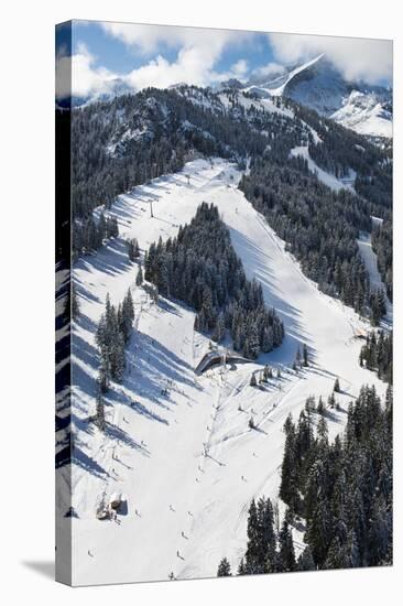
[[[186,93],[186,95],[194,99],[197,98],[195,90],[200,90],[199,87],[193,87],[186,83],[172,85],[168,89],[190,90],[190,94]],[[360,134],[392,138],[392,91],[363,82],[346,80],[324,54],[301,65],[279,71],[269,79],[253,75],[244,86],[240,80],[230,78],[213,89],[204,90],[213,90],[215,94],[222,91],[228,94],[232,90],[241,95],[239,97],[241,102],[244,102],[243,94],[247,97],[252,95],[266,104],[273,102],[273,97],[290,98]],[[96,94],[73,97],[72,105],[86,106],[135,93],[124,78],[115,78],[106,82],[102,90]],[[59,106],[66,106],[66,104],[69,104],[69,99],[58,101]]]

